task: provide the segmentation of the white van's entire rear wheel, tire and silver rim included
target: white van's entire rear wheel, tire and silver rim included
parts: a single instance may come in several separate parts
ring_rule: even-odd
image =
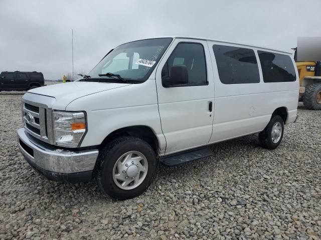
[[[281,143],[284,131],[284,123],[279,115],[272,116],[270,122],[259,133],[261,145],[267,149],[275,149]]]

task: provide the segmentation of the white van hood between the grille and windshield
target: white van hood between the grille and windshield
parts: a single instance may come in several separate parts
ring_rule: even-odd
[[[28,92],[52,96],[56,98],[53,108],[65,109],[65,107],[73,100],[90,95],[100,91],[111,90],[118,87],[127,86],[127,83],[111,83],[111,82],[93,82],[93,81],[74,81],[60,84],[52,84],[37,87]]]

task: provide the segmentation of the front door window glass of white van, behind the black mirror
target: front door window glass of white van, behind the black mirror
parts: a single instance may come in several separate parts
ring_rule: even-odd
[[[200,43],[179,43],[162,69],[162,76],[171,75],[171,67],[185,65],[188,71],[188,84],[207,84],[206,62],[203,45]]]

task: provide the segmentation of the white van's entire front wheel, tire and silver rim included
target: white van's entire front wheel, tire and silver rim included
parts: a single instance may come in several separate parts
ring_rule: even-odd
[[[96,179],[100,188],[114,199],[128,199],[143,193],[152,181],[156,155],[138,137],[119,137],[98,156]]]

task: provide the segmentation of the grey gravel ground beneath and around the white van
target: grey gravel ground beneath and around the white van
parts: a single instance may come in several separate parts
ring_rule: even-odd
[[[213,157],[161,166],[148,191],[113,201],[91,183],[35,173],[18,150],[21,95],[0,95],[1,239],[319,239],[321,111],[299,106],[275,150],[246,136]]]

